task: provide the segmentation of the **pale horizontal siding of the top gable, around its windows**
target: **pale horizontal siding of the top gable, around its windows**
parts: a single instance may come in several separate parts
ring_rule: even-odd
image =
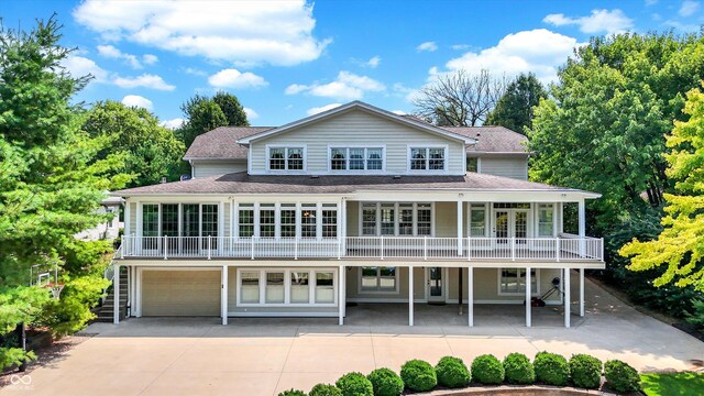
[[[308,174],[328,173],[328,146],[385,146],[386,173],[407,173],[408,145],[448,145],[448,174],[464,174],[464,143],[449,140],[400,122],[353,110],[298,130],[257,141],[250,146],[252,174],[267,173],[266,146],[300,146],[307,151]]]

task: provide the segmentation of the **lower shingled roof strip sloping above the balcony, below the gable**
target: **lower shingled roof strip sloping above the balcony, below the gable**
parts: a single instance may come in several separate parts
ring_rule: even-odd
[[[186,182],[128,188],[114,195],[151,194],[353,194],[360,190],[534,190],[575,191],[540,183],[468,173],[464,176],[304,176],[262,175],[246,172],[194,178]]]

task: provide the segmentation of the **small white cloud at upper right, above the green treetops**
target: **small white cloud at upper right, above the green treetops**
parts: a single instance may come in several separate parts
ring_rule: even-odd
[[[588,16],[565,16],[564,14],[549,14],[542,19],[542,22],[552,24],[554,26],[563,25],[578,25],[580,31],[587,34],[595,33],[620,33],[632,29],[634,21],[626,16],[626,14],[619,10],[592,10]]]

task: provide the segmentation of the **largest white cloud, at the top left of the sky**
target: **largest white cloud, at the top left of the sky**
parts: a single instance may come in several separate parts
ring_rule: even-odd
[[[330,40],[312,31],[314,6],[296,1],[88,0],[74,19],[103,38],[186,56],[242,64],[297,65],[317,59]]]

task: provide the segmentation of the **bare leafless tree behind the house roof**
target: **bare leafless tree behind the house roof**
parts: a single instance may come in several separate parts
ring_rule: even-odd
[[[505,90],[505,79],[488,70],[439,75],[414,100],[418,116],[437,125],[481,125]]]

